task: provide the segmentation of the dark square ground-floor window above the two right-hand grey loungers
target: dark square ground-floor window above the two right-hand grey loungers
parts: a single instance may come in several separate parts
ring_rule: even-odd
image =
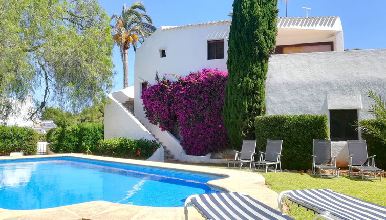
[[[357,120],[357,110],[330,110],[331,140],[358,140],[358,131],[355,129]]]

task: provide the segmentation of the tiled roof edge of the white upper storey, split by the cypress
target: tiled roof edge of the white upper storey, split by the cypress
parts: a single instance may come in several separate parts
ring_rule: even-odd
[[[333,28],[336,21],[339,20],[339,17],[279,17],[277,19],[278,28],[310,28],[310,29],[330,29]],[[222,23],[231,23],[232,20],[219,20],[219,21],[209,21],[197,24],[187,24],[181,26],[161,26],[161,30],[168,29],[177,29],[185,28],[190,26],[200,26],[200,25],[212,25],[212,24],[222,24]],[[340,25],[341,27],[341,25]]]

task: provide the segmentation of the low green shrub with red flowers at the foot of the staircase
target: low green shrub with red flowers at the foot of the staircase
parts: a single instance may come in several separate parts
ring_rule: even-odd
[[[160,147],[156,141],[146,139],[119,138],[101,140],[98,146],[93,146],[91,152],[94,155],[147,159]]]

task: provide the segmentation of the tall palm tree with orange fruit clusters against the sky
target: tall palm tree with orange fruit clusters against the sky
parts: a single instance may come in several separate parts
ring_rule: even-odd
[[[123,5],[122,15],[114,14],[116,20],[111,29],[111,34],[115,43],[119,46],[123,62],[123,87],[128,87],[128,54],[130,45],[134,52],[138,48],[138,43],[143,43],[145,38],[150,36],[156,28],[152,24],[152,19],[146,14],[146,8],[142,2],[134,2],[126,8]]]

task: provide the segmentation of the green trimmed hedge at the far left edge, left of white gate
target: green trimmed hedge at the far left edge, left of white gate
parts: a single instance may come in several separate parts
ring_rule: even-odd
[[[23,151],[24,155],[36,155],[38,136],[28,127],[0,126],[0,155]]]

